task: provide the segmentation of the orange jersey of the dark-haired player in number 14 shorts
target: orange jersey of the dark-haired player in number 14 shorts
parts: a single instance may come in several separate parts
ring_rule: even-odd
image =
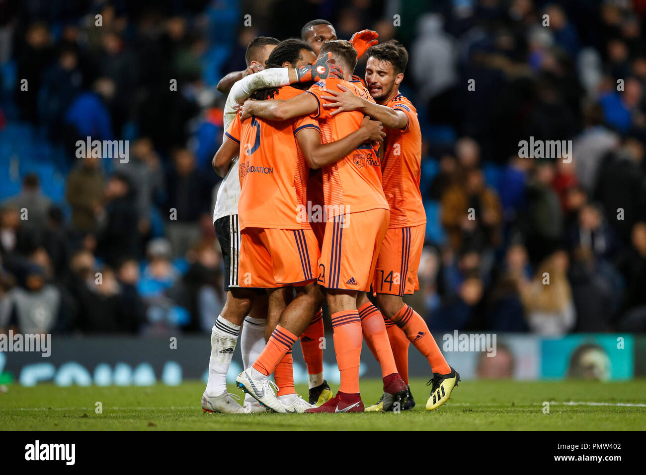
[[[401,94],[386,106],[401,110],[408,123],[401,130],[386,132],[384,160],[381,164],[382,184],[390,205],[390,228],[403,228],[426,223],[426,212],[419,190],[422,163],[422,133],[417,109]]]

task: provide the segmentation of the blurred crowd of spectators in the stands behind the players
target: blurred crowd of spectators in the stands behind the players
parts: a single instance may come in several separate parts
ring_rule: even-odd
[[[0,0],[0,164],[16,177],[1,142],[17,124],[65,180],[47,194],[29,149],[17,157],[0,330],[210,331],[224,305],[215,85],[253,37],[315,18],[410,51],[428,225],[408,302],[431,330],[646,330],[642,0]],[[78,157],[87,136],[129,141],[129,160]],[[519,156],[530,137],[573,152]]]

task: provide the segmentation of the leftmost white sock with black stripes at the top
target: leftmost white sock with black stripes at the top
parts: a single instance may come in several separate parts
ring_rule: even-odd
[[[206,393],[217,396],[227,390],[227,372],[236,349],[240,325],[218,316],[211,330],[211,358],[209,358],[209,381]]]

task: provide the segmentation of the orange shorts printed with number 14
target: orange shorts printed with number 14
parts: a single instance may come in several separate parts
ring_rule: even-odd
[[[426,225],[391,228],[381,245],[373,292],[404,295],[419,290],[417,269],[422,257]]]

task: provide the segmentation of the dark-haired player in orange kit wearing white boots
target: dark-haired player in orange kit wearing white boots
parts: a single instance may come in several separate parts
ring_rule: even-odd
[[[307,43],[290,39],[276,46],[267,65],[296,66],[299,76],[308,74],[311,77],[320,76],[322,72],[328,74],[335,67],[325,61],[310,65],[315,59]],[[279,100],[298,94],[302,94],[302,90],[284,86],[255,92],[254,97]],[[276,317],[279,319],[253,367],[240,373],[236,382],[269,409],[303,412],[312,406],[295,394],[291,365],[290,374],[275,374],[280,389],[278,397],[269,382],[269,374],[285,358],[291,360],[291,346],[309,325],[322,299],[315,283],[318,243],[309,223],[300,219],[298,212],[306,199],[307,165],[318,160],[335,161],[367,139],[381,137],[381,126],[366,119],[353,134],[321,145],[318,122],[310,117],[290,121],[265,121],[253,117],[243,124],[237,116],[226,136],[228,140],[216,153],[215,165],[222,167],[239,148],[240,285],[267,288],[268,319],[274,325]],[[294,291],[296,296],[292,299]],[[285,383],[287,379],[289,385]],[[289,396],[289,400],[280,399],[283,395]]]

